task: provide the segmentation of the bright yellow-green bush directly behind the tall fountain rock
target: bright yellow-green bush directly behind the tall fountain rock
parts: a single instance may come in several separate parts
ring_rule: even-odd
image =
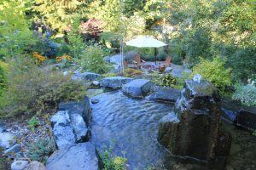
[[[190,75],[200,74],[202,78],[212,82],[218,89],[224,90],[225,86],[231,85],[231,69],[225,68],[226,59],[215,57],[212,61],[200,58],[200,63],[193,67]]]

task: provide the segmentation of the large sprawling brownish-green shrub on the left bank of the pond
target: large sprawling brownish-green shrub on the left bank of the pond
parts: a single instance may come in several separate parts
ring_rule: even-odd
[[[55,108],[60,101],[84,97],[82,82],[35,65],[32,59],[10,61],[8,89],[0,98],[2,116],[26,116]]]

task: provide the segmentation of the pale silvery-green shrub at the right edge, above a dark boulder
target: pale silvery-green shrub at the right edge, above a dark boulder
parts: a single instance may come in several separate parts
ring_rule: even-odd
[[[232,99],[240,100],[242,105],[256,106],[256,87],[253,82],[247,85],[236,84],[235,88]]]

